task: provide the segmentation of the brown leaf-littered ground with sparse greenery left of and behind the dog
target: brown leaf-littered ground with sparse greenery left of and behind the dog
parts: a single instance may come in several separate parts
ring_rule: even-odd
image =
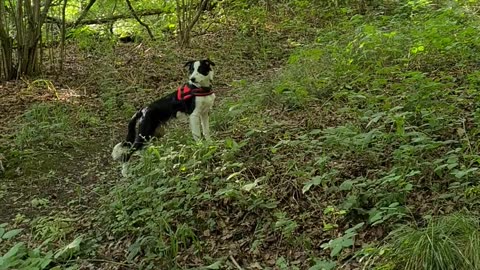
[[[72,51],[76,50],[72,48]],[[196,52],[199,50],[201,48],[197,48]],[[72,236],[79,233],[107,235],[99,243],[101,247],[98,247],[97,255],[81,260],[81,269],[133,267],[121,262],[125,258],[129,240],[109,241],[113,237],[98,232],[95,221],[99,200],[121,181],[119,164],[111,159],[110,152],[113,145],[125,136],[129,119],[129,112],[114,112],[122,107],[123,101],[112,99],[111,96],[122,96],[138,109],[176,89],[186,74],[182,69],[184,60],[178,59],[190,60],[193,59],[190,55],[196,54],[195,51],[176,51],[175,57],[169,57],[175,60],[160,59],[164,62],[162,70],[150,70],[152,59],[166,55],[158,50],[155,51],[156,55],[148,51],[141,45],[118,45],[108,60],[111,70],[99,69],[105,58],[95,59],[77,51],[68,55],[65,70],[60,76],[47,72],[42,79],[22,79],[0,85],[0,154],[3,153],[6,169],[0,175],[0,223],[27,229],[21,239],[32,246],[51,235],[54,245],[58,247],[67,244]],[[235,100],[239,95],[230,91],[231,82],[247,79],[260,81],[275,72],[276,68],[272,66],[279,65],[278,62],[270,63],[261,70],[249,69],[248,64],[242,66],[235,63],[236,71],[221,69],[231,64],[217,63],[217,69],[220,69],[215,80],[217,105],[225,99]],[[110,76],[103,72],[115,74]],[[237,77],[240,74],[241,77]],[[136,81],[137,76],[143,77],[138,79],[143,80],[141,83]],[[99,77],[108,84],[118,83],[112,89],[120,90],[105,90],[102,79],[97,80]],[[115,82],[115,78],[120,77],[122,79]],[[123,91],[122,87],[125,86],[134,90]],[[142,90],[135,91],[136,86]],[[111,104],[107,103],[112,100],[117,103],[113,105],[117,107],[115,109],[108,107]],[[93,121],[93,124],[87,124],[85,130],[73,126],[73,132],[69,130],[60,135],[36,134],[64,132],[61,129],[42,128],[44,125],[54,126],[57,121],[54,116],[48,116],[48,110],[47,115],[40,116],[40,120],[48,118],[43,119],[45,122],[38,122],[39,119],[35,117],[34,120],[30,119],[30,114],[35,112],[35,106],[39,104],[47,108],[51,105],[51,109],[65,105],[67,109],[63,112],[68,114],[67,117],[75,118],[74,125],[84,121],[80,119],[84,116],[75,111],[86,111],[87,118],[93,119],[87,122]],[[30,131],[33,134],[25,135],[25,130],[29,130],[26,127],[28,125],[33,125]],[[176,126],[187,130],[188,123],[185,119],[177,120]],[[220,133],[217,135],[221,136]],[[66,137],[68,139],[63,141]]]

